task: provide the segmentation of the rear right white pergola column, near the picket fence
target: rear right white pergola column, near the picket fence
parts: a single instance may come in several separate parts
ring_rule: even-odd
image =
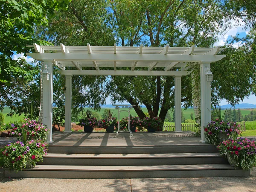
[[[174,88],[174,111],[175,111],[175,132],[181,133],[181,76],[175,76],[175,88]]]

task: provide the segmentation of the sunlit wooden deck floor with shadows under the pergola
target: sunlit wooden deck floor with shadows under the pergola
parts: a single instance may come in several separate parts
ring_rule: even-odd
[[[55,132],[52,134],[54,141],[50,145],[58,146],[168,146],[168,145],[206,145],[200,143],[200,137],[194,137],[192,132],[135,132],[133,137],[129,133],[121,132],[116,138],[116,133],[84,133]]]

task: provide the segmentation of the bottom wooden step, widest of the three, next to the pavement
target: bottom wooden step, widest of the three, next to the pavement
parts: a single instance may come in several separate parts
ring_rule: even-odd
[[[5,172],[6,177],[23,178],[153,178],[250,176],[250,170],[228,164],[161,166],[64,166],[38,165],[34,169]]]

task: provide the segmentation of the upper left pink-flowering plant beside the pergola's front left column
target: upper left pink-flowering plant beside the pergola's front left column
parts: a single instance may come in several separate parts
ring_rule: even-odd
[[[18,137],[20,142],[26,143],[27,140],[47,140],[48,129],[43,124],[37,123],[35,120],[24,119],[21,122],[11,124],[12,131],[8,133]]]

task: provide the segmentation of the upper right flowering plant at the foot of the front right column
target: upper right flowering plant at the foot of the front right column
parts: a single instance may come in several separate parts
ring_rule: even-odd
[[[216,119],[216,121],[211,121],[204,127],[205,140],[208,143],[217,145],[219,143],[218,133],[227,134],[227,137],[230,137],[231,135],[233,137],[236,135],[237,137],[238,135],[241,135],[239,128],[240,125],[236,124],[236,122],[224,122]]]

